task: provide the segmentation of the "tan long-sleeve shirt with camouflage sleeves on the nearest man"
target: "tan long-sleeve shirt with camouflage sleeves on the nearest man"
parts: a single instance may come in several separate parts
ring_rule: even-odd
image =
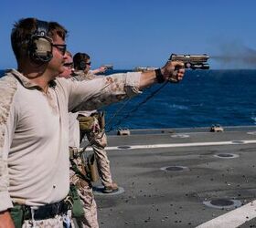
[[[68,111],[98,109],[140,93],[140,73],[76,82],[48,93],[16,70],[0,79],[0,211],[12,202],[44,205],[69,192]]]

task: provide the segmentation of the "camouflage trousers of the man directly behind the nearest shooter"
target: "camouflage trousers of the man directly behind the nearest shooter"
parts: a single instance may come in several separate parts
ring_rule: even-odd
[[[81,161],[80,157],[74,159],[73,161],[76,163],[79,169],[83,165],[83,161]],[[76,218],[75,223],[79,227],[83,228],[98,228],[97,205],[94,200],[91,182],[81,180],[75,171],[71,169],[69,170],[69,181],[77,186],[84,211],[84,217],[80,219]]]

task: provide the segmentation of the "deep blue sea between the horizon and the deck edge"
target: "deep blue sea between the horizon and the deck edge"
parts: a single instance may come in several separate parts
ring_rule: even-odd
[[[256,70],[188,70],[178,84],[107,107],[107,130],[255,125],[255,85]]]

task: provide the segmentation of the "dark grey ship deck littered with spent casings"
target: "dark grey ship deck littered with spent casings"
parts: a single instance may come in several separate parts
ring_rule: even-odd
[[[248,204],[256,198],[256,128],[224,130],[109,135],[112,176],[124,191],[95,194],[100,227],[256,227]]]

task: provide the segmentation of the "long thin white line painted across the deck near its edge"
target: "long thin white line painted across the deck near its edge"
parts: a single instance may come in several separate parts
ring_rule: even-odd
[[[236,143],[240,141],[242,143]],[[256,140],[231,140],[231,141],[208,141],[208,142],[191,142],[191,143],[166,143],[166,144],[152,144],[152,145],[120,145],[129,146],[128,149],[119,147],[106,147],[105,150],[135,150],[135,149],[154,149],[154,148],[177,148],[177,147],[200,147],[200,146],[224,146],[224,145],[235,145],[235,144],[253,144]],[[88,148],[88,150],[92,150]]]

